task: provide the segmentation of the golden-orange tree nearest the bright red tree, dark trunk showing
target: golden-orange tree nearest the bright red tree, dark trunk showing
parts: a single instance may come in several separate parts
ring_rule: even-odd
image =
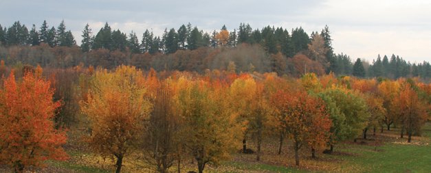
[[[80,103],[82,113],[91,121],[89,146],[104,157],[115,157],[115,172],[120,172],[124,155],[142,135],[142,123],[151,110],[145,93],[142,72],[119,66],[114,72],[96,71],[88,98]]]

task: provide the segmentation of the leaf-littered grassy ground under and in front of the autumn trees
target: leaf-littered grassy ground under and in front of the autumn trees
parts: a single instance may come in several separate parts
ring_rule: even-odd
[[[406,138],[399,138],[399,129],[395,128],[368,135],[369,139],[358,139],[356,143],[338,144],[332,155],[319,152],[317,159],[312,159],[309,150],[304,148],[299,167],[294,166],[290,146],[285,146],[284,152],[277,155],[277,144],[266,142],[261,161],[255,161],[256,155],[235,154],[231,161],[208,165],[205,172],[431,172],[431,122],[423,128],[422,137],[413,137],[412,144],[406,143]],[[254,148],[253,144],[250,148]],[[109,158],[76,148],[68,148],[67,152],[69,161],[48,161],[47,168],[37,172],[114,172]],[[181,172],[189,170],[196,171],[196,166],[189,164],[181,168]],[[150,170],[144,170],[144,163],[139,159],[126,158],[122,172]]]

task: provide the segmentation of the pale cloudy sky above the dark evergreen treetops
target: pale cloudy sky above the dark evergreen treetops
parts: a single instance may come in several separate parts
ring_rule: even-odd
[[[80,44],[88,23],[93,34],[109,23],[138,38],[145,29],[161,36],[165,28],[191,23],[204,31],[232,31],[240,23],[253,29],[267,25],[289,32],[302,27],[311,34],[329,26],[335,53],[372,62],[377,55],[395,54],[409,62],[431,60],[431,1],[429,0],[1,0],[0,25],[20,21],[29,29],[57,27],[64,20]]]

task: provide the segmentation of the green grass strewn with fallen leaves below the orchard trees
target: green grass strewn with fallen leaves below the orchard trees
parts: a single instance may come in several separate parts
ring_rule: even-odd
[[[398,133],[397,129],[390,132],[385,131],[386,135]],[[386,139],[388,142],[377,147],[351,143],[338,144],[334,148],[338,154],[324,155],[319,153],[319,160],[302,156],[299,168],[294,167],[291,160],[287,162],[277,161],[275,157],[273,158],[269,154],[260,162],[250,159],[254,158],[254,155],[236,154],[237,159],[234,159],[235,161],[222,162],[218,167],[208,165],[205,172],[431,172],[431,122],[427,122],[422,135],[423,137],[413,140],[413,142],[418,142],[419,139],[420,145],[417,143],[394,144],[394,141],[406,141],[406,139],[396,139],[396,137]],[[288,152],[291,153],[291,151]],[[103,163],[105,166],[101,166],[102,162],[99,163],[100,158],[97,159],[96,155],[87,153],[83,157],[92,163],[79,161],[78,158],[82,158],[80,156],[82,153],[79,151],[69,151],[69,155],[74,158],[74,161],[48,161],[47,163],[52,168],[71,170],[71,172],[113,172],[113,166],[106,167],[107,164],[113,163],[108,161]],[[248,159],[238,159],[238,157]],[[287,155],[287,157],[291,157],[291,155]],[[280,158],[283,159],[283,157]],[[268,162],[268,159],[272,160]],[[128,166],[132,165],[129,163]],[[109,170],[105,170],[108,168]],[[193,169],[195,169],[195,165],[188,165],[181,172]],[[142,172],[142,169],[129,170]],[[124,172],[127,171],[124,170]]]

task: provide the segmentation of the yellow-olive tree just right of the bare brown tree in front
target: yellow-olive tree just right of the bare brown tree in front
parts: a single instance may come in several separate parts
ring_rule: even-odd
[[[199,173],[207,163],[219,163],[236,147],[236,117],[227,109],[227,93],[221,85],[212,88],[203,81],[180,78],[177,103],[183,123],[181,139],[197,161]],[[184,85],[183,84],[183,85]]]

